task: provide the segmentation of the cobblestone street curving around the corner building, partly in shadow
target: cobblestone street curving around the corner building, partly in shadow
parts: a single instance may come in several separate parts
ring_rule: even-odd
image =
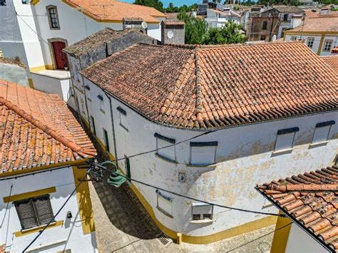
[[[100,154],[98,160],[108,160],[96,140],[93,143]],[[270,252],[275,226],[212,244],[169,243],[165,246],[158,239],[163,234],[128,184],[116,188],[107,184],[107,178],[105,174],[103,182],[89,184],[99,252],[227,252],[231,249],[234,249],[231,252]],[[257,239],[270,232],[268,236]],[[250,242],[253,239],[257,240]]]

